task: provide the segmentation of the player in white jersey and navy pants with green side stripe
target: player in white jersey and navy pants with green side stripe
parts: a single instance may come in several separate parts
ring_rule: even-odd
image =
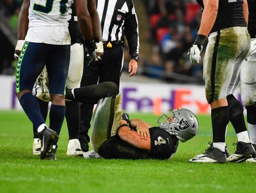
[[[76,0],[79,27],[85,40],[93,40],[86,0]],[[65,115],[65,82],[68,75],[71,38],[68,20],[72,0],[24,0],[19,15],[18,42],[15,48],[16,95],[42,141],[40,158],[49,158],[58,139]],[[28,15],[28,16],[27,16]],[[21,52],[20,52],[21,50]],[[52,99],[49,128],[40,113],[32,88],[38,75],[47,68]]]

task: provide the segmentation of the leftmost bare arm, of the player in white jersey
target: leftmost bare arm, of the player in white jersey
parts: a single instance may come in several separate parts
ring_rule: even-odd
[[[18,17],[18,40],[25,40],[28,29],[28,8],[30,7],[30,0],[24,0],[20,8]]]

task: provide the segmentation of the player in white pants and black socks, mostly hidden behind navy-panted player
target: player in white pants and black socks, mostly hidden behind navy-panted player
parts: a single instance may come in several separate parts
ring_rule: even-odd
[[[96,51],[98,56],[101,56],[104,52],[101,42],[101,25],[98,18],[98,12],[96,9],[96,1],[88,0],[88,11],[90,18],[92,19],[93,36],[96,42],[97,49],[95,50],[94,42],[87,42],[85,44],[86,52],[90,53],[90,58],[94,58],[93,52]],[[78,23],[75,10],[75,4],[71,6],[72,14],[71,19],[68,21],[69,34],[71,36],[71,56],[68,69],[68,77],[66,82],[66,89],[75,89],[80,87],[82,79],[82,70],[84,67],[84,37],[82,36]],[[102,48],[102,49],[100,49]],[[97,58],[97,57],[96,57]],[[95,58],[94,58],[95,59]],[[98,58],[97,58],[98,59]],[[66,91],[67,94],[67,91]],[[39,102],[40,111],[43,118],[46,120],[48,114],[48,102],[51,100],[48,90],[48,76],[46,68],[39,75],[35,84],[35,96]],[[82,156],[82,150],[79,142],[79,127],[80,127],[80,103],[73,100],[65,100],[66,112],[65,118],[68,125],[69,143],[67,149],[68,156]],[[34,143],[33,154],[40,155],[41,141],[38,138],[38,134],[35,126],[34,130]],[[54,149],[53,149],[54,150]],[[56,157],[56,156],[55,156]]]

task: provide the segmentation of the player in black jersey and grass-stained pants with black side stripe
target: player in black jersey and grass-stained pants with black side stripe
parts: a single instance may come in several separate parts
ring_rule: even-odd
[[[213,143],[205,153],[190,162],[226,163],[225,134],[229,121],[237,132],[237,149],[243,157],[255,153],[250,143],[243,108],[233,96],[239,82],[241,63],[250,49],[247,31],[246,0],[197,0],[203,14],[195,42],[189,49],[192,63],[200,62],[200,53],[208,37],[204,57],[204,80],[207,101],[212,109]]]

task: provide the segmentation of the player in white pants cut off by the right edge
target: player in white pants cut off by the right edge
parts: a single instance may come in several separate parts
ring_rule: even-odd
[[[247,111],[247,126],[251,144],[256,150],[256,1],[247,0],[249,8],[248,31],[251,36],[251,48],[249,55],[241,66],[241,98]],[[238,142],[240,143],[240,142]],[[230,162],[241,162],[245,160],[240,149],[228,158]],[[255,155],[246,160],[256,162]]]

